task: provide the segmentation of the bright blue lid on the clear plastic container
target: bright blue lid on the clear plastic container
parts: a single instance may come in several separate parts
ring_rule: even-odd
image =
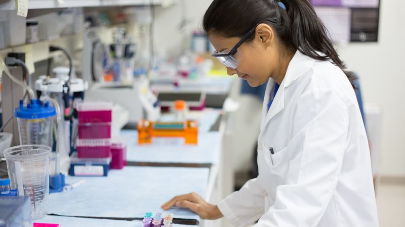
[[[29,104],[24,106],[20,100],[20,107],[16,108],[14,112],[15,117],[22,119],[41,119],[56,116],[55,107],[50,106],[49,102],[43,104],[38,99],[32,99]]]

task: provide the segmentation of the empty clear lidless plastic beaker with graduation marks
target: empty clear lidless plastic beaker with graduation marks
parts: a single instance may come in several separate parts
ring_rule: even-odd
[[[45,217],[49,196],[49,156],[51,147],[22,145],[4,152],[10,177],[10,188],[19,196],[29,196],[32,219]]]

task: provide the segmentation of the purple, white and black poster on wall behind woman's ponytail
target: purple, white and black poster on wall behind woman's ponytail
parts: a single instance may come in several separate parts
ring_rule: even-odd
[[[310,0],[336,43],[377,42],[379,0]]]

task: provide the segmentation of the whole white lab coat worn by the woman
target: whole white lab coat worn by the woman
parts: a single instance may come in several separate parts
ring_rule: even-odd
[[[254,226],[378,226],[369,144],[345,74],[297,51],[267,111],[273,88],[270,79],[259,176],[218,203],[225,218],[235,226],[259,218]]]

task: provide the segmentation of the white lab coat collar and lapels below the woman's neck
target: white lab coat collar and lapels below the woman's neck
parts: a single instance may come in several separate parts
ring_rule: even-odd
[[[315,59],[312,59],[297,50],[287,68],[286,76],[284,77],[284,80],[282,80],[269,110],[267,110],[267,103],[270,100],[271,92],[273,92],[275,81],[271,78],[268,80],[262,108],[262,124],[260,126],[259,138],[261,137],[262,132],[264,131],[268,122],[275,115],[277,115],[277,113],[284,109],[285,89],[293,84],[300,76],[306,73],[315,61]]]

